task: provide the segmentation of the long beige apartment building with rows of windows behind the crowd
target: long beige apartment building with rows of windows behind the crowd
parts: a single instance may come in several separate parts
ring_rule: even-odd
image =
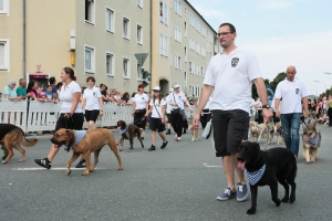
[[[64,66],[77,83],[134,92],[142,67],[152,73],[146,91],[167,93],[179,82],[199,96],[216,32],[186,0],[0,0],[0,88],[11,78],[60,81]],[[135,57],[148,53],[144,65]],[[27,75],[30,73],[30,75]]]

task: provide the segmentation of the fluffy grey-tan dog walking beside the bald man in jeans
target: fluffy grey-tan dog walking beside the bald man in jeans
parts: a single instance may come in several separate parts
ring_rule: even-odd
[[[321,146],[321,133],[315,126],[315,122],[309,120],[303,128],[302,135],[303,156],[305,157],[307,162],[314,162]]]

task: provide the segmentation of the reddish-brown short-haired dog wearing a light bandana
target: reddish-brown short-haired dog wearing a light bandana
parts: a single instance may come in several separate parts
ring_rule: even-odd
[[[86,161],[86,168],[82,175],[87,176],[89,172],[92,172],[98,162],[98,156],[104,145],[108,145],[111,147],[117,159],[118,169],[123,169],[115,139],[111,130],[106,128],[87,130],[85,135],[82,135],[83,138],[81,140],[76,140],[77,135],[81,135],[81,133],[84,134],[85,130],[76,131],[72,129],[61,128],[53,135],[53,138],[51,139],[53,144],[56,144],[59,146],[66,145],[73,149],[73,155],[66,162],[66,175],[71,173],[71,164],[80,157],[80,154],[83,154],[83,158]],[[94,152],[94,161],[92,168],[90,168],[91,152]]]

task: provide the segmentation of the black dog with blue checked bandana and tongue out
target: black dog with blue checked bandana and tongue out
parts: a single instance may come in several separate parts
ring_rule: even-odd
[[[292,203],[295,201],[297,183],[297,159],[291,150],[283,147],[274,147],[269,150],[260,150],[259,144],[246,141],[240,146],[238,154],[240,169],[247,169],[247,178],[250,183],[251,208],[247,214],[255,214],[257,208],[258,186],[270,186],[272,201],[280,206],[282,202]],[[284,188],[284,197],[280,201],[278,198],[278,181]],[[289,197],[289,185],[291,193]]]

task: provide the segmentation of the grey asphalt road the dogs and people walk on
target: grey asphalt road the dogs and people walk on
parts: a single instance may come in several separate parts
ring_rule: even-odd
[[[305,164],[300,148],[293,204],[277,208],[268,187],[259,188],[255,215],[246,214],[250,197],[245,202],[216,200],[227,182],[210,140],[190,141],[186,134],[177,143],[174,135],[167,135],[168,146],[162,150],[157,138],[157,150],[151,152],[147,129],[144,149],[136,140],[131,151],[125,141],[120,152],[122,171],[108,147],[104,147],[96,170],[87,177],[81,176],[83,169],[66,176],[64,166],[71,152],[63,149],[51,170],[37,166],[33,159],[48,155],[49,140],[25,148],[25,162],[18,162],[20,154],[15,151],[9,164],[0,166],[0,220],[331,220],[332,128],[319,128],[319,159]],[[283,189],[279,186],[281,196]]]

